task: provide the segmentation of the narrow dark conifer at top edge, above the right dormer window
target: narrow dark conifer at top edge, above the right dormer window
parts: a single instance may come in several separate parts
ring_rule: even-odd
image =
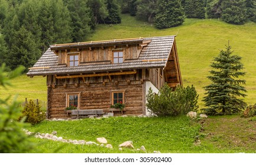
[[[116,0],[106,0],[106,9],[108,10],[108,17],[104,19],[106,24],[120,24],[120,6]]]

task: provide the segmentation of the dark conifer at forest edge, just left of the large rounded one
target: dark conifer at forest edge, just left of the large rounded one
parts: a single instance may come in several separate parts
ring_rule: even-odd
[[[137,0],[136,18],[153,23],[156,12],[157,0]]]

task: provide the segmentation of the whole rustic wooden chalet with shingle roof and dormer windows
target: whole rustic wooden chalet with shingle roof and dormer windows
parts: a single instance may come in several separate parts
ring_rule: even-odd
[[[124,114],[147,114],[150,87],[182,85],[175,36],[50,45],[27,75],[47,77],[48,118],[67,118],[71,104],[109,113],[119,101]]]

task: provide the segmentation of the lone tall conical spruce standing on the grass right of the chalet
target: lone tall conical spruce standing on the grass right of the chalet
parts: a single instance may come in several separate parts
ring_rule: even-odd
[[[238,97],[245,97],[245,80],[239,79],[244,76],[244,65],[241,57],[232,55],[231,46],[221,50],[218,57],[210,65],[214,70],[210,71],[209,80],[212,84],[204,87],[206,96],[203,101],[208,114],[234,114],[239,113],[246,107],[246,103]]]

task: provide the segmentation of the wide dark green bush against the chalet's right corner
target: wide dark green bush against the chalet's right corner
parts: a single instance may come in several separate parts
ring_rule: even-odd
[[[179,114],[186,114],[189,111],[196,111],[198,94],[195,87],[186,88],[177,87],[176,90],[167,85],[160,89],[158,94],[153,93],[152,89],[147,94],[147,108],[151,114],[157,116],[178,116]]]

